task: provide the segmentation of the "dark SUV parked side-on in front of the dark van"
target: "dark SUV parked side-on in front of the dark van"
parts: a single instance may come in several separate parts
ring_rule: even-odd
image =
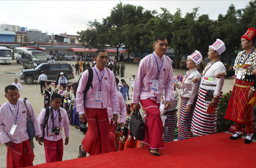
[[[70,80],[75,78],[72,66],[69,63],[41,63],[36,68],[19,71],[18,78],[31,85],[34,80],[38,80],[41,71],[44,71],[47,80],[59,81],[60,72],[63,72],[67,80]]]

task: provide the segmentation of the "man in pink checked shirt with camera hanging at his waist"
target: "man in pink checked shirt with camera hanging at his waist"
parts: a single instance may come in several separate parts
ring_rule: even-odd
[[[62,128],[65,132],[65,145],[69,143],[69,117],[67,111],[61,108],[61,95],[59,93],[53,93],[51,95],[50,115],[46,127],[44,128],[43,136],[43,124],[46,114],[46,108],[42,109],[37,117],[38,124],[41,128],[41,134],[38,138],[38,143],[42,145],[44,143],[44,152],[46,163],[62,161],[63,156],[63,135]],[[59,131],[56,131],[59,130]],[[42,138],[44,141],[42,141]]]

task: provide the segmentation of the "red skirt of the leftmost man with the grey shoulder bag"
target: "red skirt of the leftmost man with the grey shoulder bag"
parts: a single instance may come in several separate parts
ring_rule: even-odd
[[[34,152],[30,148],[30,139],[22,143],[15,144],[7,147],[6,167],[28,167],[33,165]]]

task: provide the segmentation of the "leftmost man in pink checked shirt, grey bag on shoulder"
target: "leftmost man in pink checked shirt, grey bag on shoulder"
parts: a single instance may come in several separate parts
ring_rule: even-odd
[[[26,106],[14,85],[5,87],[5,97],[8,101],[0,107],[0,140],[7,147],[6,167],[32,166],[35,155],[27,133]],[[40,127],[31,104],[26,101],[26,105],[37,138]]]

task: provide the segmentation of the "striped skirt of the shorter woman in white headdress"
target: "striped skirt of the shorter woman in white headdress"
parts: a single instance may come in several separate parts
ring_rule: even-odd
[[[179,107],[178,140],[193,138],[193,133],[191,132],[191,121],[196,107],[197,96],[194,99],[193,105],[190,107],[190,112],[186,113],[189,98],[190,97],[180,96],[181,102]]]

